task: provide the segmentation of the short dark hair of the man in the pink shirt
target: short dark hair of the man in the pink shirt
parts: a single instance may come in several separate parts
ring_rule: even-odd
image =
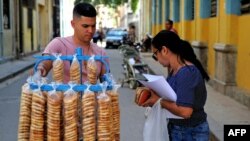
[[[73,17],[96,17],[97,12],[93,5],[89,3],[78,3],[73,9]]]

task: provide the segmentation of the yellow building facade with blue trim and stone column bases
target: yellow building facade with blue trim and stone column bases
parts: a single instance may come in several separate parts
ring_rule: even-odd
[[[210,84],[250,107],[249,0],[141,0],[141,33],[152,35],[174,21],[194,47]]]

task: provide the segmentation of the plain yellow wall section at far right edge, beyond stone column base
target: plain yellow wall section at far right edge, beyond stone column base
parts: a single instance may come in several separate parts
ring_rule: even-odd
[[[250,15],[238,18],[238,45],[237,45],[237,85],[250,91]]]

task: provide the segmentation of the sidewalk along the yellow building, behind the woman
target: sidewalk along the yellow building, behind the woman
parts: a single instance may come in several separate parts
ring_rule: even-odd
[[[155,74],[167,76],[167,68],[162,67],[152,59],[152,53],[142,53],[144,62],[154,68]],[[211,141],[223,141],[223,126],[225,124],[250,124],[250,109],[234,99],[207,87],[207,102],[205,111],[211,130]]]

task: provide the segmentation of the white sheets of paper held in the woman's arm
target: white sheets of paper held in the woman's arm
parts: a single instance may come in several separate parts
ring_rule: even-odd
[[[148,80],[148,81],[139,80],[139,82],[142,83],[144,86],[154,90],[163,99],[168,99],[171,101],[177,100],[176,93],[170,87],[170,85],[168,84],[168,82],[163,76],[150,75],[150,74],[143,74],[143,76]],[[180,116],[174,115],[167,109],[165,110],[166,110],[167,118],[183,119]]]

